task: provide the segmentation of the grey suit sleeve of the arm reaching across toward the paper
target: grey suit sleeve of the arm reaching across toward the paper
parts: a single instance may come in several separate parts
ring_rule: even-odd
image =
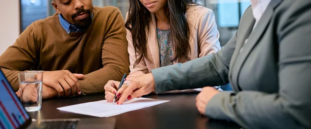
[[[217,53],[184,64],[151,70],[156,83],[156,93],[228,84],[229,65],[235,43],[236,35]]]

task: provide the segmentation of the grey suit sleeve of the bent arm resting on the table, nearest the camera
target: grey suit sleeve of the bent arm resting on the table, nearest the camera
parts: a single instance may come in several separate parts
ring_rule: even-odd
[[[246,129],[311,128],[311,2],[294,2],[279,19],[279,92],[220,92],[206,115]]]

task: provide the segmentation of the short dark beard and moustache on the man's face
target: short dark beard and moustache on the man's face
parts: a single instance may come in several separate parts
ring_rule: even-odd
[[[88,15],[85,19],[75,20],[75,18],[81,13],[86,13]],[[86,30],[92,23],[91,10],[85,10],[83,8],[78,10],[77,13],[73,14],[71,18],[74,21],[74,25],[83,30]]]

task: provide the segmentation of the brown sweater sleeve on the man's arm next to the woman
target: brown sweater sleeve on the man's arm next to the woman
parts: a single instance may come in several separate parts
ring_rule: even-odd
[[[109,80],[120,81],[124,73],[129,73],[129,54],[127,52],[126,29],[119,9],[108,19],[102,60],[104,67],[88,73],[80,80],[81,91],[85,94],[103,93]],[[115,51],[115,50],[118,51]]]

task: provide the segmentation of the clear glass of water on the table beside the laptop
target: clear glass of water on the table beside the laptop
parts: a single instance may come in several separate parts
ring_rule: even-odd
[[[20,100],[27,111],[41,109],[43,71],[27,71],[18,74]]]

